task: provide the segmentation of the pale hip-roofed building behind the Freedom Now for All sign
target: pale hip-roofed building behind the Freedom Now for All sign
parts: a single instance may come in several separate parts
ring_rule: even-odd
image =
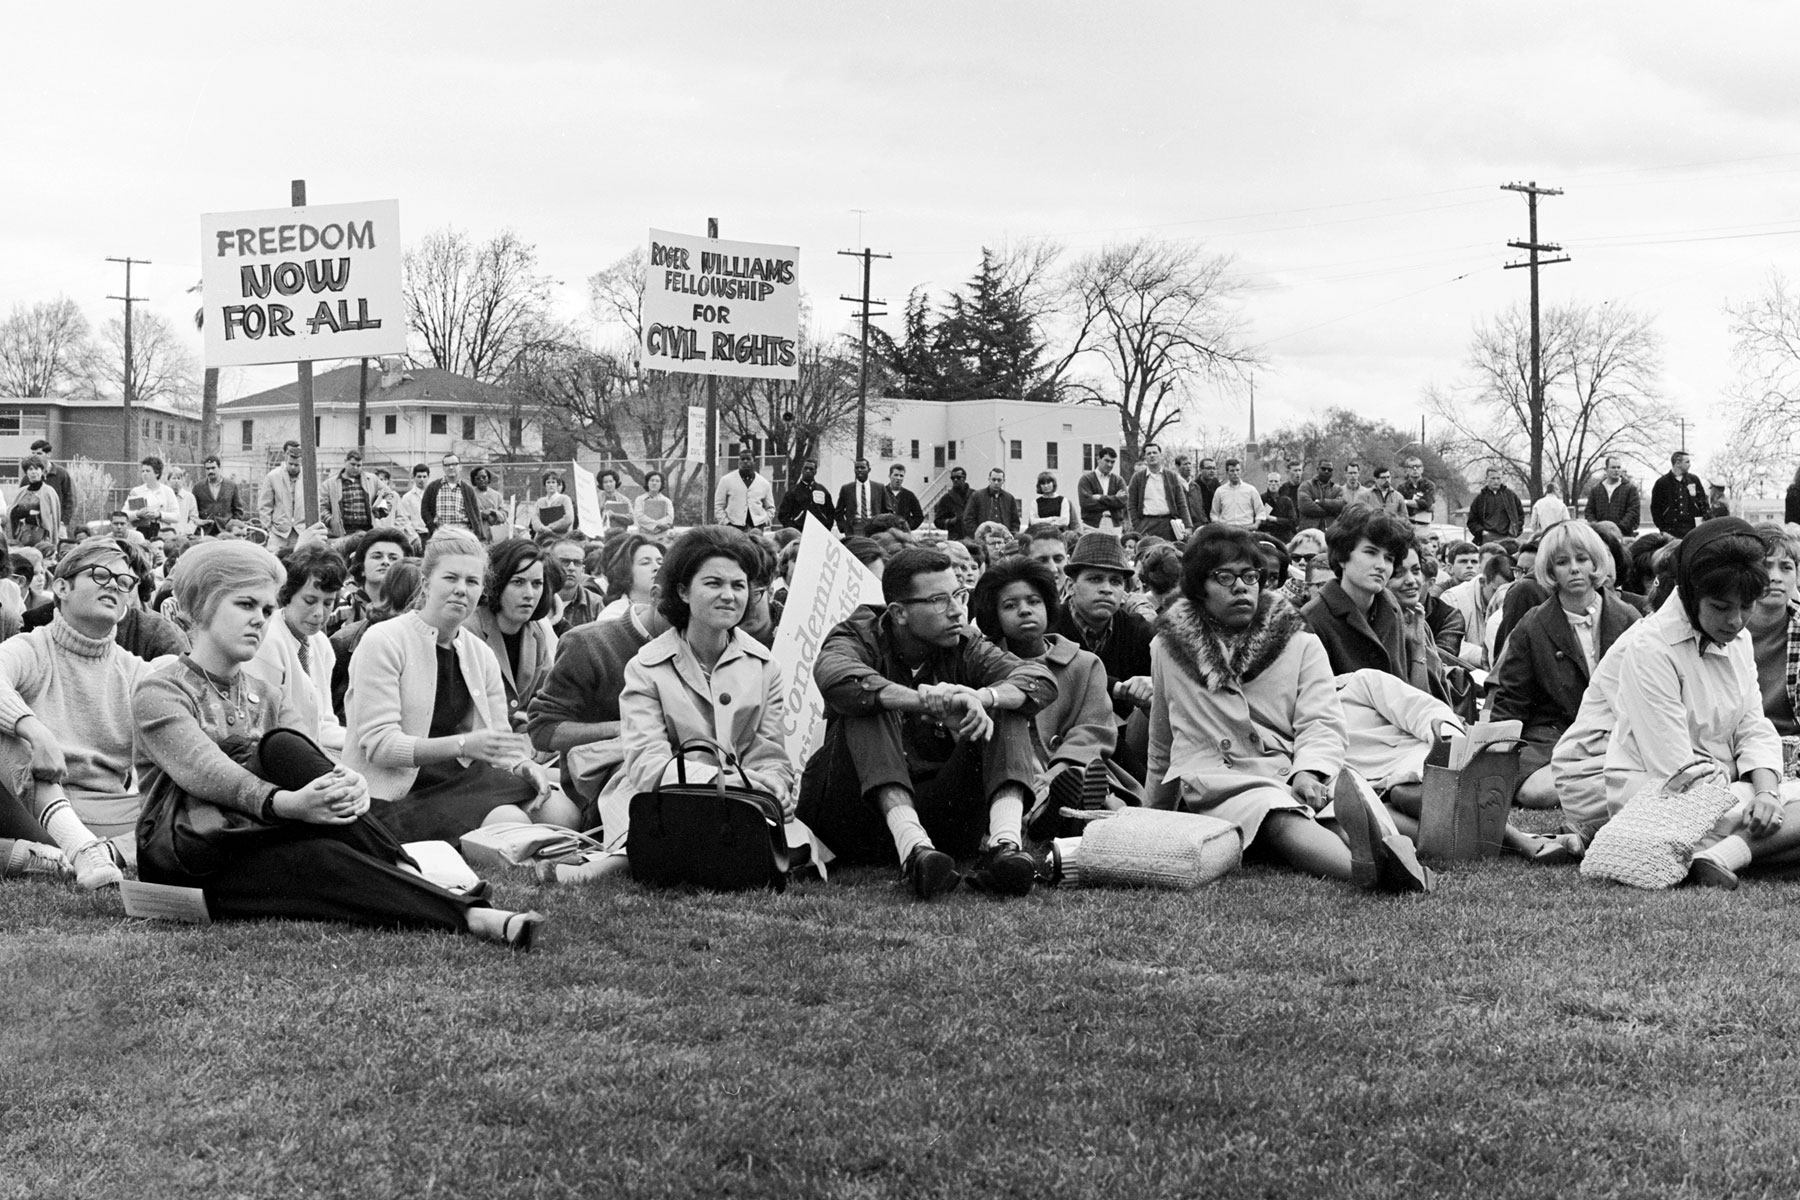
[[[338,367],[313,378],[313,437],[320,470],[337,466],[356,444],[360,367]],[[544,434],[529,408],[500,387],[436,367],[369,371],[365,464],[394,468],[396,479],[414,462],[455,452],[468,462],[500,455],[540,457]],[[284,441],[299,439],[299,383],[220,405],[220,461],[227,475],[261,479]]]

